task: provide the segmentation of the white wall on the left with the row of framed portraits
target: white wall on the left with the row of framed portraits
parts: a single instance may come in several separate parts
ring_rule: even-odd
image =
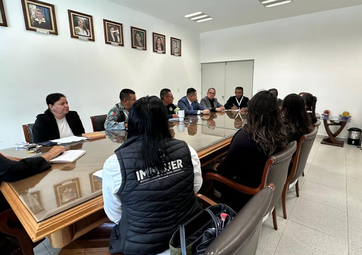
[[[25,30],[21,1],[4,0],[9,27],[0,26],[0,148],[24,141],[21,125],[34,123],[49,93],[64,93],[91,132],[89,116],[106,114],[123,88],[140,98],[166,87],[176,103],[186,88],[201,89],[199,33],[105,0],[50,2],[59,35]],[[70,37],[67,9],[93,16],[95,42]],[[123,24],[124,47],[105,44],[103,19]],[[147,51],[131,48],[130,26],[147,30]],[[152,32],[166,35],[166,54],[152,51]],[[181,57],[170,54],[170,37],[182,40]]]

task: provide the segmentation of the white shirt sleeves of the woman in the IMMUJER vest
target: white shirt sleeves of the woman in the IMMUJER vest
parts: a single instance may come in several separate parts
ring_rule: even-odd
[[[198,192],[202,185],[201,163],[197,152],[188,145],[191,153],[191,161],[194,167],[194,192]],[[108,218],[115,224],[121,220],[122,201],[119,199],[117,192],[121,188],[122,175],[121,167],[117,156],[110,156],[103,166],[102,192],[104,201],[104,211]]]

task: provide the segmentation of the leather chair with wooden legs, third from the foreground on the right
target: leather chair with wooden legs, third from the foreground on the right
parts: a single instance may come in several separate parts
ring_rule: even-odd
[[[295,185],[296,196],[299,197],[299,177],[304,172],[304,168],[306,167],[309,153],[312,149],[312,145],[317,135],[318,128],[313,128],[313,131],[307,135],[303,135],[300,137],[298,148],[296,149],[296,154],[292,158],[291,163],[292,169],[287,177],[287,180],[284,184],[283,192],[282,192],[282,205],[283,205],[283,217],[287,218],[286,211],[286,195],[287,190],[292,188]]]

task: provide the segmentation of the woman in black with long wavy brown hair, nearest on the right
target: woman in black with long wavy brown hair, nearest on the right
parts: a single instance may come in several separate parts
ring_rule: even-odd
[[[266,160],[285,146],[286,132],[277,97],[269,91],[260,91],[248,102],[242,129],[234,135],[216,171],[237,183],[256,188]],[[241,157],[245,160],[240,161]]]

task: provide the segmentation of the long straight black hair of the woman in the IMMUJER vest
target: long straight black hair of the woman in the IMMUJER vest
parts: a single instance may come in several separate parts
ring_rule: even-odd
[[[172,139],[168,129],[167,110],[160,98],[146,96],[131,107],[128,117],[127,139],[139,136],[143,139],[141,156],[144,169],[164,168],[165,139]]]

